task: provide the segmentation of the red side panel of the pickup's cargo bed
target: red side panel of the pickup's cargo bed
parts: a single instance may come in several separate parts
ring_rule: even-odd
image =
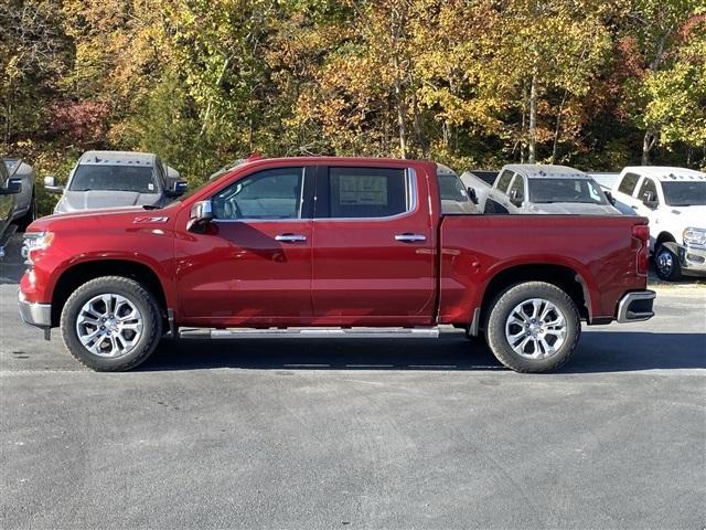
[[[468,322],[492,278],[520,267],[578,276],[587,320],[614,318],[616,300],[644,288],[637,271],[639,216],[447,215],[440,225],[439,316]],[[632,241],[632,245],[627,242]],[[552,266],[552,268],[550,268]]]

